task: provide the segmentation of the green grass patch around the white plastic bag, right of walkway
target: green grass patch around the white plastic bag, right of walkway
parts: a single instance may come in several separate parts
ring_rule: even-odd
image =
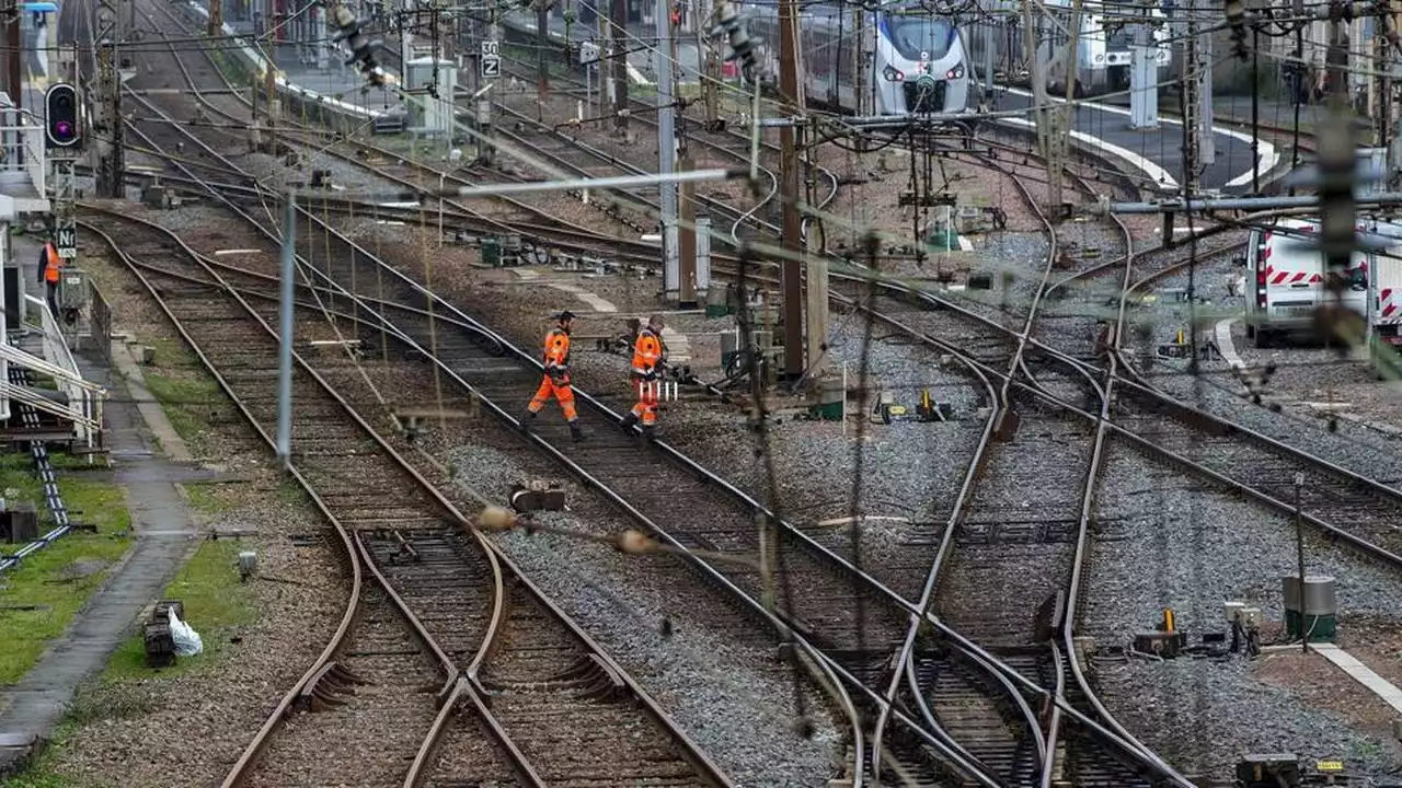
[[[178,599],[185,604],[185,617],[205,644],[203,653],[177,658],[174,667],[147,667],[146,644],[140,635],[133,635],[112,655],[104,680],[164,676],[213,663],[229,637],[254,620],[252,589],[238,580],[236,561],[240,548],[243,544],[231,538],[200,543],[189,564],[165,586],[163,599]]]

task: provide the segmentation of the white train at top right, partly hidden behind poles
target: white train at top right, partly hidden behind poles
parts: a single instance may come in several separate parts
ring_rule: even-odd
[[[1075,95],[1129,90],[1136,29],[1134,25],[1116,24],[1129,18],[1126,6],[1112,8],[1105,3],[1082,3],[1074,53],[1068,52],[1071,0],[1046,0],[1044,6],[1047,13],[1037,14],[1036,18],[1040,25],[1037,57],[1046,66],[1047,90],[1054,95],[1066,93],[1067,69],[1073,60]],[[1148,14],[1165,18],[1162,8],[1157,6]],[[1032,69],[1022,41],[1022,0],[979,0],[979,7],[965,14],[960,28],[972,72],[987,80],[987,72],[991,70],[1007,84],[1029,86]],[[1159,83],[1168,81],[1173,57],[1168,39],[1168,25],[1152,28],[1151,57]]]

